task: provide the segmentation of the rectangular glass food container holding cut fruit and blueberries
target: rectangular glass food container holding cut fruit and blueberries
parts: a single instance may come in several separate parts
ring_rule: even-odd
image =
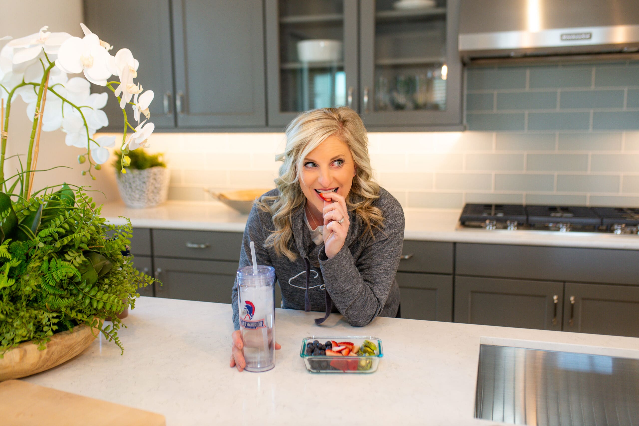
[[[318,341],[325,344],[327,341],[350,342],[357,346],[362,346],[364,341],[373,342],[376,349],[374,355],[357,356],[327,356],[327,355],[306,355],[307,343]],[[384,356],[381,340],[372,336],[311,336],[302,339],[300,356],[304,360],[306,369],[312,373],[372,373],[377,371],[380,359]]]

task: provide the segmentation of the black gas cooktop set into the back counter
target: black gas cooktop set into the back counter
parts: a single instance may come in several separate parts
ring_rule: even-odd
[[[639,234],[639,209],[557,205],[466,204],[465,228]]]

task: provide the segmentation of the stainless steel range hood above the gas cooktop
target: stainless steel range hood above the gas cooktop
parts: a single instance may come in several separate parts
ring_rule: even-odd
[[[461,0],[460,7],[459,53],[465,62],[627,58],[639,50],[638,0]]]

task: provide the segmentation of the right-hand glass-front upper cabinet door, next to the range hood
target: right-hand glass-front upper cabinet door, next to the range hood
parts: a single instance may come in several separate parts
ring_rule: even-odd
[[[360,1],[367,127],[461,123],[458,0]]]

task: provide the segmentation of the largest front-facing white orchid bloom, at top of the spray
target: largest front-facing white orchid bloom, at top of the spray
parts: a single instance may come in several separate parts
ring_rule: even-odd
[[[84,30],[86,26],[82,29]],[[88,28],[86,28],[85,34]],[[107,85],[107,78],[113,75],[113,57],[96,34],[88,31],[84,38],[70,37],[58,50],[56,66],[69,74],[84,71],[84,77],[97,85]]]

